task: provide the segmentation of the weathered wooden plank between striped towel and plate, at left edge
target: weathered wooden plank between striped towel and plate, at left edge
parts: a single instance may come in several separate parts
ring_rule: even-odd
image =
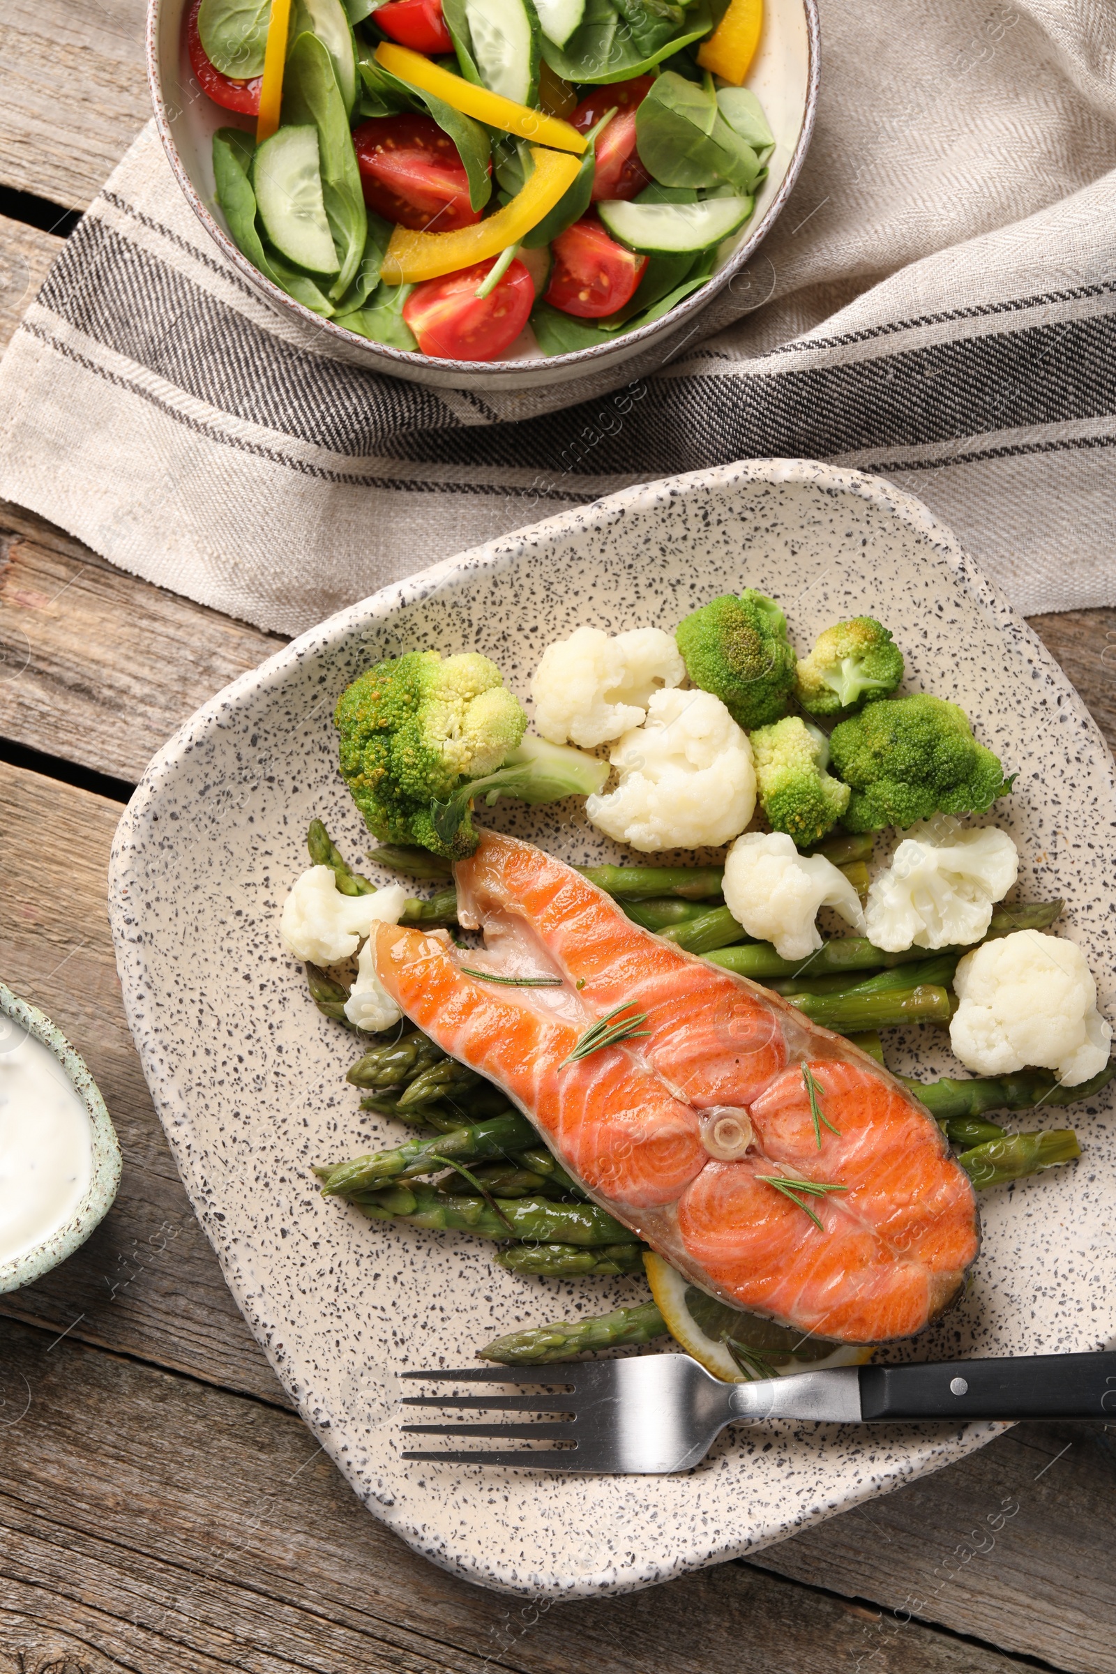
[[[0,737],[134,783],[199,703],[283,643],[0,512]]]

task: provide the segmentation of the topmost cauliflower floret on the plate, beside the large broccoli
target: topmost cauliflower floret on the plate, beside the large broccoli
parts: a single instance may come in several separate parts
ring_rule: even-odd
[[[571,738],[592,750],[642,727],[658,688],[678,686],[686,675],[678,646],[661,628],[632,628],[614,638],[577,628],[542,653],[530,681],[535,732],[550,743]]]

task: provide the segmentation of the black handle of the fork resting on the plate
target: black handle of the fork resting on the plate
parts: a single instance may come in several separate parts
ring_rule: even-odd
[[[860,1410],[865,1420],[1116,1420],[1116,1353],[862,1366]]]

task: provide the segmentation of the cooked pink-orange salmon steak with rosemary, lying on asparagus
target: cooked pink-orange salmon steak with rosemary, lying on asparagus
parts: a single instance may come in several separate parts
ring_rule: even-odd
[[[485,949],[373,926],[380,981],[507,1091],[594,1202],[711,1296],[820,1338],[909,1338],[949,1306],[979,1249],[975,1197],[898,1081],[530,844],[485,832],[453,870],[458,917],[484,926]],[[646,1035],[571,1061],[622,1004],[646,1013]],[[711,1138],[726,1110],[753,1135],[733,1160]],[[795,1199],[771,1178],[838,1190]]]

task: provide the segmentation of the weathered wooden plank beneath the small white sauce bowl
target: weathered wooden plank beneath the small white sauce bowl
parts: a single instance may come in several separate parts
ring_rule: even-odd
[[[0,1306],[286,1401],[194,1219],[124,1021],[104,906],[119,817],[115,802],[0,763],[0,973],[89,1061],[124,1148],[117,1202],[89,1244]]]

